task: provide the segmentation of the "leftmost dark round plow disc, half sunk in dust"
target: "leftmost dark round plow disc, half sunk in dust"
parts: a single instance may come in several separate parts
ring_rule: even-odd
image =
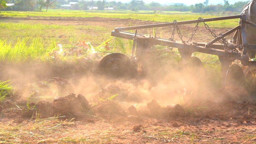
[[[113,53],[100,60],[100,69],[108,76],[120,77],[128,74],[131,68],[130,59],[121,53]]]

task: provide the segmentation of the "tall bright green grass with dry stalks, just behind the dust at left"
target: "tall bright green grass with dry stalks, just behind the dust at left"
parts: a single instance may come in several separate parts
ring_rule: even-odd
[[[108,42],[111,42],[109,50],[106,50]],[[92,58],[92,55],[104,56],[105,54],[121,52],[124,54],[130,53],[128,41],[121,38],[110,37],[106,41],[94,47],[90,42],[78,41],[74,39],[68,40],[68,44],[62,44],[58,47],[56,39],[51,39],[50,42],[45,42],[43,38],[25,37],[18,38],[12,44],[6,40],[0,40],[0,61],[2,62],[76,62],[78,58]],[[82,44],[86,44],[83,46]]]

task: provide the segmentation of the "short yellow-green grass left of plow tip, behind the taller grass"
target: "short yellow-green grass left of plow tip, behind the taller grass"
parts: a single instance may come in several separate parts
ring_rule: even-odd
[[[42,40],[44,40],[46,45],[50,45],[51,40],[55,40],[56,43],[62,43],[65,41],[63,38],[61,38],[62,35],[64,35],[66,38],[72,38],[73,40],[79,40],[81,38],[83,40],[84,38],[84,40],[87,42],[100,44],[107,37],[110,37],[110,32],[106,30],[106,28],[100,26],[64,26],[54,24],[48,25],[0,22],[0,27],[0,40],[6,40],[8,43],[12,42],[12,44],[15,43],[18,38],[24,37],[40,37]],[[95,39],[87,31],[98,31],[104,34],[99,35],[98,39]],[[69,41],[72,42],[72,39]]]

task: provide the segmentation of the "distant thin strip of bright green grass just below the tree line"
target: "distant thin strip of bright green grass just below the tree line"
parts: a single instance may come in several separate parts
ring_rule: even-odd
[[[191,12],[159,12],[154,14],[153,11],[90,11],[90,10],[49,10],[48,12],[12,12],[3,11],[1,16],[13,16],[13,17],[30,17],[30,16],[42,16],[42,17],[104,17],[104,18],[131,18],[138,20],[150,20],[155,22],[172,22],[173,20],[185,21],[185,20],[197,20],[202,18],[214,18],[222,15],[208,15],[198,14]],[[222,20],[211,22],[216,28],[229,28],[237,26],[238,19]]]

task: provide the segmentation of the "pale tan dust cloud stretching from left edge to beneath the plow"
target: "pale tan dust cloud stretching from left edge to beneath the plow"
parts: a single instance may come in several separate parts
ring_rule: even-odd
[[[87,71],[74,69],[79,64],[70,64],[70,67],[6,64],[2,65],[1,77],[2,80],[12,81],[20,99],[27,99],[31,95],[46,96],[49,102],[56,96],[69,93],[83,94],[92,103],[116,95],[113,100],[126,103],[127,106],[144,106],[151,100],[166,106],[208,99],[217,102],[222,99],[218,99],[219,87],[212,84],[211,76],[205,70],[199,72],[200,68],[195,67],[192,73],[177,62],[158,62],[152,56],[148,58],[152,59],[143,62],[143,74],[131,78],[111,78],[99,74],[95,72],[97,63],[87,67]]]

